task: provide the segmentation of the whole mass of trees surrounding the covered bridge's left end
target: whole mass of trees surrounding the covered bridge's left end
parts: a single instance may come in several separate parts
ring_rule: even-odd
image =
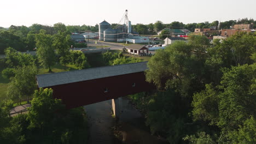
[[[60,24],[60,25],[59,25]],[[56,63],[72,64],[77,69],[89,68],[81,51],[69,49],[66,26],[59,23],[54,35],[40,29],[34,34],[36,56],[21,53],[13,47],[4,50],[0,59],[2,75],[9,79],[7,95],[0,98],[0,143],[85,143],[86,114],[83,109],[66,110],[61,100],[53,99],[52,89],[38,89],[35,77],[42,67],[51,72]],[[30,99],[27,114],[11,117],[13,101]],[[21,103],[20,103],[21,104]]]

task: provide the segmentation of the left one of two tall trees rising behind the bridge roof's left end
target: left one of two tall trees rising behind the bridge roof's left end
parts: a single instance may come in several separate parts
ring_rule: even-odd
[[[51,72],[51,66],[55,64],[55,52],[53,49],[53,38],[49,34],[45,34],[44,30],[40,30],[39,34],[36,34],[36,46],[39,62],[45,68],[48,68]]]

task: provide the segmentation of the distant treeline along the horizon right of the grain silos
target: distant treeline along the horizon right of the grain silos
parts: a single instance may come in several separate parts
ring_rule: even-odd
[[[254,28],[256,28],[256,21],[253,19],[239,19],[239,20],[230,20],[220,22],[220,28],[228,29],[230,26],[234,26],[235,24],[251,24],[254,23]],[[116,24],[112,24],[115,26]],[[148,25],[143,25],[142,23],[138,23],[137,25],[132,25],[133,30],[138,34],[156,34],[164,28],[171,29],[188,29],[191,32],[194,32],[195,28],[210,28],[211,26],[218,26],[219,21],[213,22],[200,22],[200,23],[188,23],[184,24],[182,22],[174,21],[172,23],[162,23],[161,21],[156,21],[155,23],[149,23]]]

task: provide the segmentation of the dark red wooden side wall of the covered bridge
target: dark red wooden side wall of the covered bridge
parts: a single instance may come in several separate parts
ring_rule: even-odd
[[[132,84],[135,83],[135,87]],[[124,97],[129,94],[146,92],[153,89],[152,83],[146,82],[143,72],[104,77],[82,82],[52,86],[54,97],[62,99],[67,109],[98,103],[100,101]],[[104,89],[108,88],[108,92]]]

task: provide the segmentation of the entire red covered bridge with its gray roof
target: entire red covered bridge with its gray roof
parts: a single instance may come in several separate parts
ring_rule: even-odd
[[[37,75],[37,85],[52,88],[67,109],[153,89],[146,82],[147,62]]]

